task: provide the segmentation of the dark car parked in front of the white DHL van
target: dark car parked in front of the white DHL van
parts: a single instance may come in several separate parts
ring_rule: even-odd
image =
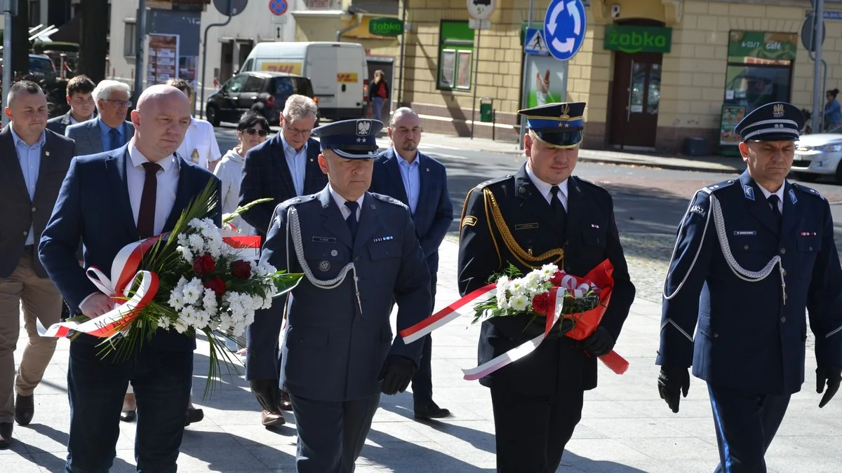
[[[237,123],[244,112],[255,110],[269,120],[269,125],[278,125],[286,99],[294,93],[317,100],[307,77],[286,72],[240,72],[208,98],[205,115],[211,125],[219,126],[221,121]]]

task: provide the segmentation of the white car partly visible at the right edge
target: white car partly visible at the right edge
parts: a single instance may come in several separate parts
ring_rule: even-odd
[[[795,143],[792,173],[802,181],[814,181],[821,175],[833,176],[842,183],[842,130],[802,135]]]

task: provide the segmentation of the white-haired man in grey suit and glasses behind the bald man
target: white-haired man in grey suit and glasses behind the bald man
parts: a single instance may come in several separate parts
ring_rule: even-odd
[[[135,125],[125,120],[131,107],[131,90],[123,82],[105,80],[93,89],[99,116],[70,125],[64,135],[76,141],[76,155],[86,156],[112,151],[125,145],[135,136]]]

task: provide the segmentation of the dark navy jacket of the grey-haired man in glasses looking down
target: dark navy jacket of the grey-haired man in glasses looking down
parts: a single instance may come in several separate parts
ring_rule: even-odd
[[[320,152],[318,141],[312,138],[307,140],[304,192],[301,195],[316,194],[328,185],[328,175],[322,173],[322,168],[318,165]],[[264,238],[269,228],[269,221],[272,220],[274,208],[288,199],[298,197],[296,186],[292,182],[290,167],[286,163],[284,142],[280,140],[280,132],[248,150],[242,165],[240,205],[267,197],[272,201],[255,205],[242,214],[242,220],[253,226],[258,231],[258,235]]]

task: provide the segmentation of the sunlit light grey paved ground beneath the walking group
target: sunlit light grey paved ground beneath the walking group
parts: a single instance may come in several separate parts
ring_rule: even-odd
[[[440,308],[456,300],[456,244],[441,247]],[[637,278],[636,273],[632,273]],[[646,284],[638,282],[637,284]],[[644,291],[641,291],[644,292]],[[644,292],[645,293],[645,292]],[[647,300],[649,299],[649,300]],[[582,422],[558,471],[564,473],[699,473],[717,464],[716,438],[706,387],[695,378],[681,412],[658,398],[654,354],[660,305],[638,297],[616,351],[631,363],[618,376],[600,366],[600,387],[585,396]],[[494,470],[493,416],[488,390],[461,380],[461,369],[477,361],[478,327],[467,318],[434,333],[434,398],[453,412],[443,422],[412,419],[412,395],[383,396],[359,473],[473,473]],[[19,340],[18,347],[26,343]],[[35,420],[15,426],[13,449],[0,450],[0,471],[59,472],[64,464],[70,410],[67,406],[67,340],[59,342],[45,380],[35,391]],[[19,355],[19,353],[16,353]],[[738,360],[735,360],[738,362]],[[196,353],[195,385],[200,394],[207,369],[207,343]],[[807,356],[807,383],[793,396],[787,417],[767,455],[770,473],[831,473],[842,464],[842,397],[818,409],[815,362]],[[224,378],[216,396],[197,399],[205,420],[187,428],[179,471],[253,473],[295,470],[294,418],[278,430],[259,425],[257,402],[242,378]],[[839,395],[842,396],[842,395]],[[134,471],[135,423],[120,424],[113,472]]]

